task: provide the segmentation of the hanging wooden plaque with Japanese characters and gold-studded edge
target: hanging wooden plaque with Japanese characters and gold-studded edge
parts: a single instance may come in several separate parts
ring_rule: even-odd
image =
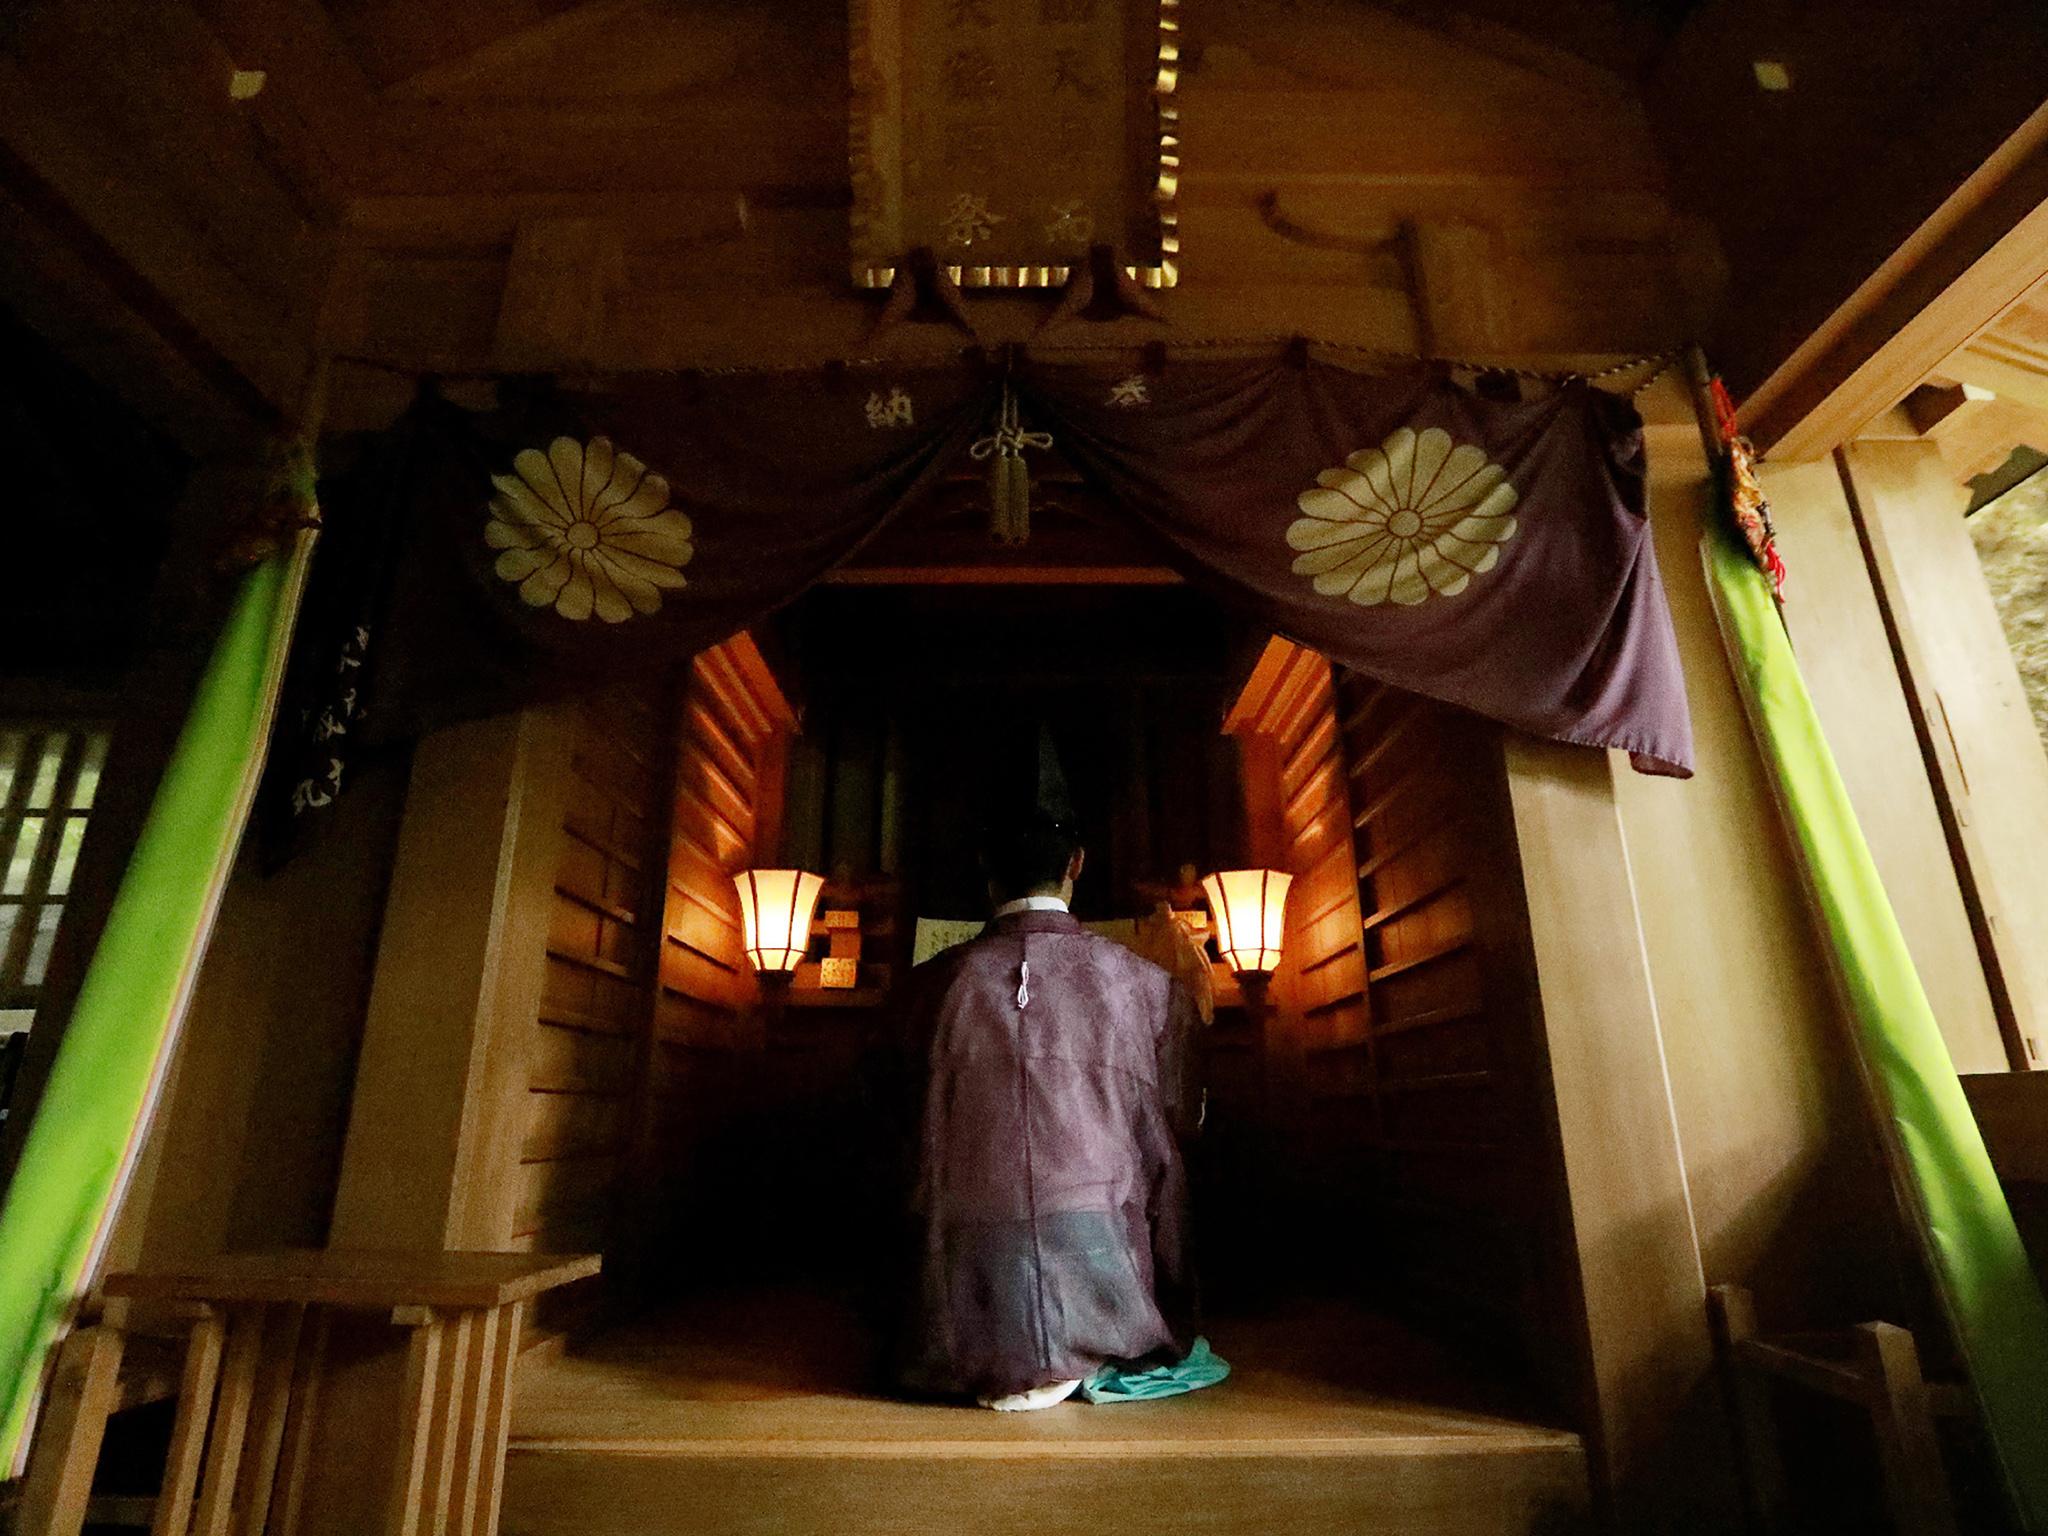
[[[1061,287],[1096,244],[1176,279],[1178,0],[852,0],[852,266]]]

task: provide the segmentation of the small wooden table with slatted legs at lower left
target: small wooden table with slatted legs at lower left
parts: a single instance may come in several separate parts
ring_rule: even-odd
[[[289,1249],[111,1276],[109,1296],[199,1309],[152,1536],[334,1528],[313,1503],[354,1505],[352,1530],[492,1536],[526,1303],[596,1272],[596,1253]],[[399,1391],[365,1393],[391,1327]],[[348,1487],[324,1479],[336,1438],[385,1446],[389,1483],[354,1458]]]

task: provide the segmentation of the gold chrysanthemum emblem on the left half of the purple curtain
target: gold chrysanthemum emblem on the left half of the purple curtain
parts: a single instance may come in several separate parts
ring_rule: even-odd
[[[616,625],[657,612],[662,592],[682,586],[690,518],[668,504],[668,481],[610,438],[526,449],[492,485],[483,543],[504,551],[494,569],[535,608]]]

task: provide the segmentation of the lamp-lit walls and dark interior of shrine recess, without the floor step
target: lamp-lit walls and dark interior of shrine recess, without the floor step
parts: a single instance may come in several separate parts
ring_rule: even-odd
[[[973,776],[1020,713],[1065,758],[1083,920],[1198,905],[1190,874],[1212,868],[1296,881],[1264,999],[1214,967],[1212,1303],[1399,1315],[1567,1417],[1499,731],[1186,586],[825,588],[698,657],[666,705],[586,702],[514,1241],[602,1247],[612,1317],[692,1288],[881,1284],[903,1126],[877,1122],[872,1053],[920,920],[981,915]],[[840,915],[786,987],[739,948],[745,866],[827,877]],[[825,922],[858,934],[842,985]],[[543,1327],[586,1327],[592,1300]]]

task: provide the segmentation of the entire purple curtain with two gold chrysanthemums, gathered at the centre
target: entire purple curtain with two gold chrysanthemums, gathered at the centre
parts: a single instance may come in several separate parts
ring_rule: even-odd
[[[1022,365],[1024,426],[1190,575],[1341,666],[1688,774],[1634,410],[1307,358]],[[352,750],[629,678],[758,623],[993,432],[997,369],[426,393],[330,477],[272,838]],[[1036,449],[1026,451],[1026,463]],[[272,842],[272,848],[279,844]]]

